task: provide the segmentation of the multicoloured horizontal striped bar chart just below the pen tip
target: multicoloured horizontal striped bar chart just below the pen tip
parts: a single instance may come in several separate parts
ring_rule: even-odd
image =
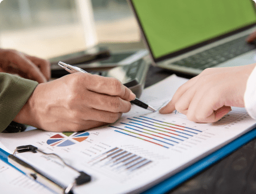
[[[136,139],[169,149],[183,141],[202,133],[202,130],[153,119],[146,116],[127,118],[114,126],[117,133],[122,133]]]

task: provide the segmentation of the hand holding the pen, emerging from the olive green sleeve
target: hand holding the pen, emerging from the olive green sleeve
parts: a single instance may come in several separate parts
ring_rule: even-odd
[[[14,121],[49,131],[81,131],[114,123],[135,97],[115,78],[74,73],[38,84]]]

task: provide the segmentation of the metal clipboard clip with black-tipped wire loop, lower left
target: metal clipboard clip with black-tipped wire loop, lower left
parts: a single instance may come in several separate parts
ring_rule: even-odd
[[[57,180],[53,179],[52,177],[45,175],[44,172],[41,170],[36,169],[35,167],[29,165],[28,163],[24,162],[23,160],[19,159],[15,156],[15,153],[22,153],[22,152],[32,152],[37,153],[40,152],[45,155],[53,155],[61,160],[65,166],[70,167],[71,169],[78,172],[80,175],[74,180],[74,182],[70,183],[67,187],[58,182]],[[17,167],[22,172],[26,173],[29,177],[36,180],[37,182],[41,183],[42,185],[46,186],[47,188],[53,190],[56,193],[60,194],[73,194],[74,186],[84,185],[87,182],[90,182],[91,176],[87,175],[85,172],[78,171],[73,166],[68,165],[65,161],[54,153],[44,153],[41,150],[38,150],[37,147],[32,145],[27,146],[19,146],[17,147],[12,154],[8,156],[8,162]]]

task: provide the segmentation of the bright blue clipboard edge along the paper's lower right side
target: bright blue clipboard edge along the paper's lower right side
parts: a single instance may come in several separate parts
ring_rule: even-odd
[[[208,156],[204,157],[204,159],[199,160],[198,162],[180,171],[179,173],[176,173],[175,175],[169,177],[166,180],[163,180],[163,182],[160,182],[159,184],[153,186],[150,189],[147,189],[145,192],[142,192],[141,194],[166,193],[176,188],[176,186],[180,185],[181,183],[185,182],[191,177],[195,176],[196,174],[206,169],[207,167],[213,165],[214,163],[228,156],[228,154],[231,154],[239,147],[250,142],[255,137],[256,128],[245,133],[241,137],[238,137],[238,139],[235,139],[231,143],[228,143],[224,147],[221,147],[221,149],[217,150],[214,153],[209,154]]]

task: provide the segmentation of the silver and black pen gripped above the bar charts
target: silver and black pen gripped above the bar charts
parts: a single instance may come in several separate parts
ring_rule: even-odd
[[[68,65],[68,64],[65,64],[63,62],[59,62],[58,65],[60,65],[60,67],[64,68],[66,71],[68,71],[69,73],[76,73],[76,72],[81,72],[81,73],[87,73],[87,71],[84,71],[82,70],[81,68],[79,67],[74,67],[72,65]],[[143,101],[139,100],[138,98],[135,98],[135,100],[132,100],[130,101],[130,103],[133,103],[139,107],[142,107],[142,108],[145,108],[147,110],[151,110],[153,112],[156,111],[155,108],[153,108],[152,106],[146,104],[146,103],[143,103]]]

